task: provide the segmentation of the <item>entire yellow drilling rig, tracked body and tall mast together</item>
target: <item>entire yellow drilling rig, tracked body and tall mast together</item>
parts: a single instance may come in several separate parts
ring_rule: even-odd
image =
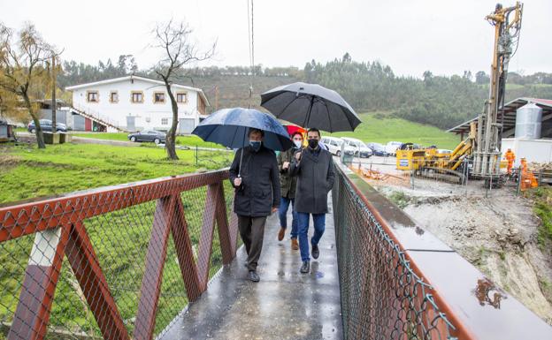
[[[464,183],[464,178],[470,176],[485,179],[486,185],[502,184],[504,178],[500,172],[500,162],[503,118],[499,122],[497,117],[498,110],[504,105],[508,64],[516,53],[522,12],[523,4],[519,2],[512,7],[496,4],[495,11],[485,17],[495,26],[489,96],[477,123],[472,122],[468,138],[450,154],[437,154],[431,149],[397,150],[397,169],[415,170],[422,177],[442,178],[458,183]],[[468,159],[472,159],[472,170],[464,168],[464,161]]]

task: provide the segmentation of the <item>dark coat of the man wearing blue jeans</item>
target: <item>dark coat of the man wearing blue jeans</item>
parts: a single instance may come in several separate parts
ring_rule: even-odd
[[[334,160],[324,149],[319,154],[307,147],[301,161],[291,163],[291,174],[297,176],[294,209],[300,213],[326,214],[327,193],[334,186]]]

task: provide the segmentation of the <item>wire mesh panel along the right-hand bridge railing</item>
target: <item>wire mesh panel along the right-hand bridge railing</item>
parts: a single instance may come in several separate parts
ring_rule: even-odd
[[[453,339],[432,287],[341,170],[333,200],[345,339]]]

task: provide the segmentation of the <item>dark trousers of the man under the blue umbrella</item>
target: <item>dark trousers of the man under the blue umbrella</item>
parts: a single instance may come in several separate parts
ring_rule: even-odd
[[[257,270],[257,262],[263,250],[266,216],[251,217],[238,215],[238,228],[242,236],[245,251],[248,254],[248,269]]]

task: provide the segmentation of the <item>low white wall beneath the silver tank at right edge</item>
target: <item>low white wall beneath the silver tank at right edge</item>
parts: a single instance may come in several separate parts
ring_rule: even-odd
[[[502,139],[502,155],[511,148],[516,155],[514,166],[521,165],[521,158],[527,162],[552,162],[552,140]]]

